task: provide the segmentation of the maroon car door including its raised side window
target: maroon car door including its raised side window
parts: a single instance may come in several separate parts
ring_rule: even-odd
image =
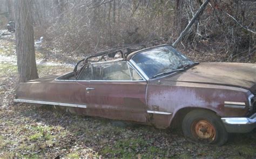
[[[99,117],[146,122],[147,82],[126,61],[92,64],[89,106]]]

